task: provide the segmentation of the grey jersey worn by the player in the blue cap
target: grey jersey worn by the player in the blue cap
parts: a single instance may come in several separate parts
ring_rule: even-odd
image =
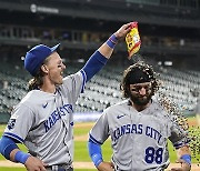
[[[11,113],[4,135],[24,143],[44,163],[73,160],[73,111],[84,89],[83,71],[63,78],[54,93],[32,90]]]

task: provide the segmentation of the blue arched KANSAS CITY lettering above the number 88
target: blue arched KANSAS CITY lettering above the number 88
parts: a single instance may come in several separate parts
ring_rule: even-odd
[[[113,131],[112,140],[117,141],[119,138],[121,138],[124,134],[144,134],[151,139],[157,140],[157,142],[160,142],[160,139],[162,138],[162,134],[156,130],[154,128],[151,128],[149,125],[143,127],[143,124],[124,124],[119,128],[117,128]]]

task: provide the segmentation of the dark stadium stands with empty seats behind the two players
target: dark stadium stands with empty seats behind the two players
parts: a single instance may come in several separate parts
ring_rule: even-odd
[[[66,74],[78,71],[93,51],[126,22],[138,21],[142,41],[128,60],[126,43],[87,86],[74,120],[94,121],[121,100],[123,69],[143,59],[163,80],[161,91],[193,115],[200,90],[200,0],[0,0],[0,123],[27,93],[26,52],[61,42]]]

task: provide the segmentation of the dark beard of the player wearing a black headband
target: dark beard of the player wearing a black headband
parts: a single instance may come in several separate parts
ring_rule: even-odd
[[[144,97],[130,95],[131,101],[137,105],[146,105],[150,102],[152,94],[147,94]]]

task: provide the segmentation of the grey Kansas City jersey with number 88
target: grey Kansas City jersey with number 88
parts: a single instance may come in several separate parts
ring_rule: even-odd
[[[186,133],[156,101],[138,112],[124,100],[103,111],[90,138],[99,144],[111,138],[117,171],[161,171],[169,165],[168,139],[180,148]]]

